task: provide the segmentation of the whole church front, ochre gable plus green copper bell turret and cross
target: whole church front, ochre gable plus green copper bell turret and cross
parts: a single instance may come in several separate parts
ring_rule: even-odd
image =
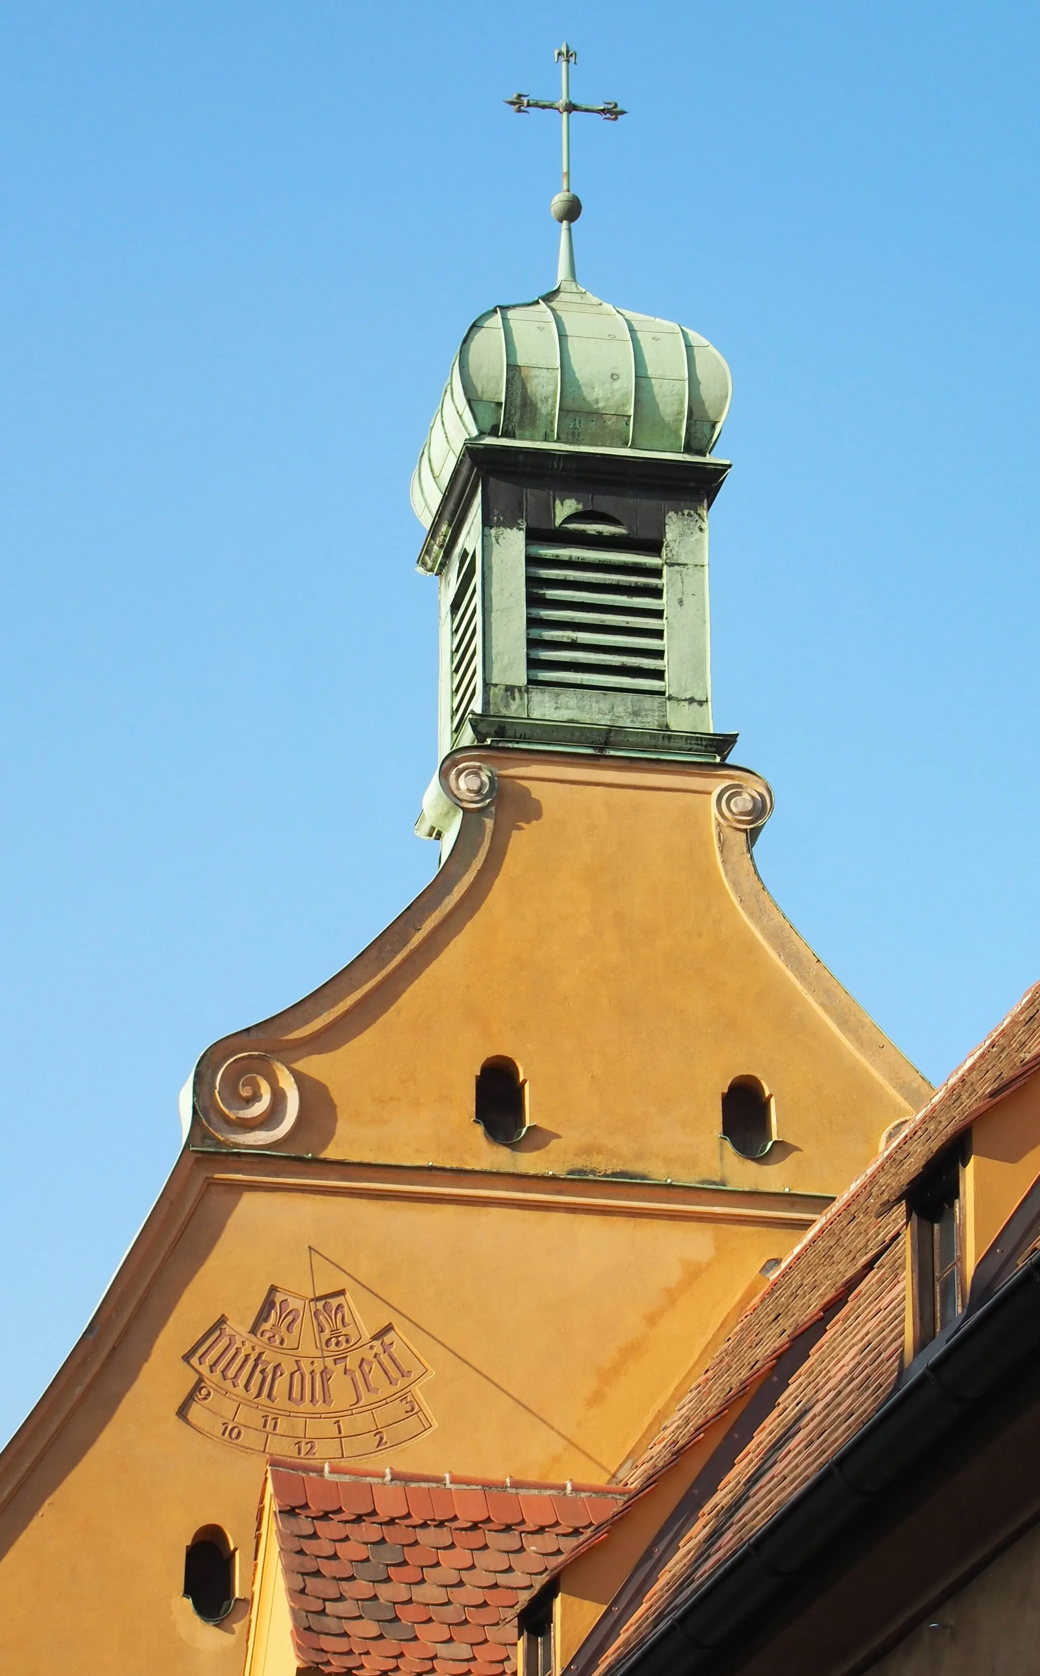
[[[519,1480],[559,1492],[556,1520],[581,1487],[606,1507],[929,1094],[755,872],[772,794],[729,761],[710,701],[730,375],[697,332],[578,283],[568,122],[590,107],[558,57],[561,101],[509,101],[564,119],[558,282],[469,328],[412,484],[440,590],[417,830],[440,866],[340,972],[201,1054],[159,1202],[0,1456],[10,1669],[129,1671],[146,1648],[156,1676],[395,1671],[385,1636],[415,1629],[389,1602],[419,1577],[385,1582],[397,1537],[335,1559],[318,1532],[298,1565],[330,1599],[355,1562],[378,1574],[358,1601],[399,1591],[372,1607],[397,1626],[380,1658],[337,1663],[345,1619],[290,1585],[311,1611],[293,1642],[268,1466],[317,1473],[337,1508],[330,1475],[352,1472],[387,1505],[414,1475],[437,1497],[469,1485],[471,1508]],[[516,1668],[517,1589],[494,1611],[467,1597],[497,1664],[457,1676]],[[340,1606],[355,1639],[384,1634]],[[452,1634],[437,1676],[469,1659]]]

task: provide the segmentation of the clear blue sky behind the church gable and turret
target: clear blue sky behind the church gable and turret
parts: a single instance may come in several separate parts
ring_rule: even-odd
[[[407,488],[471,318],[578,277],[734,370],[715,721],[757,858],[933,1079],[1040,977],[1040,15],[55,0],[0,17],[0,1433],[214,1037],[420,888]]]

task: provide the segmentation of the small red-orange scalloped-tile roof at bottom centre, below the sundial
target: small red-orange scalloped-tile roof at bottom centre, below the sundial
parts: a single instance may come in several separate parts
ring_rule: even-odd
[[[365,1676],[507,1676],[521,1607],[630,1495],[290,1463],[271,1493],[300,1663]]]

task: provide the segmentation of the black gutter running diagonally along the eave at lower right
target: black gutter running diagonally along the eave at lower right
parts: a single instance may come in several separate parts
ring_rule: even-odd
[[[896,1393],[762,1530],[730,1555],[616,1669],[707,1671],[893,1492],[946,1431],[1040,1351],[1040,1252],[945,1342],[908,1368]]]

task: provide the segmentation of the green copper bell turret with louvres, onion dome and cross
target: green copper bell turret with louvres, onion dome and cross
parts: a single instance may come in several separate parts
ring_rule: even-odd
[[[516,94],[563,117],[554,290],[466,334],[412,504],[440,585],[440,754],[519,746],[723,763],[712,727],[708,508],[730,372],[707,339],[615,308],[574,277],[569,117],[616,104]],[[425,826],[445,811],[432,788]]]

